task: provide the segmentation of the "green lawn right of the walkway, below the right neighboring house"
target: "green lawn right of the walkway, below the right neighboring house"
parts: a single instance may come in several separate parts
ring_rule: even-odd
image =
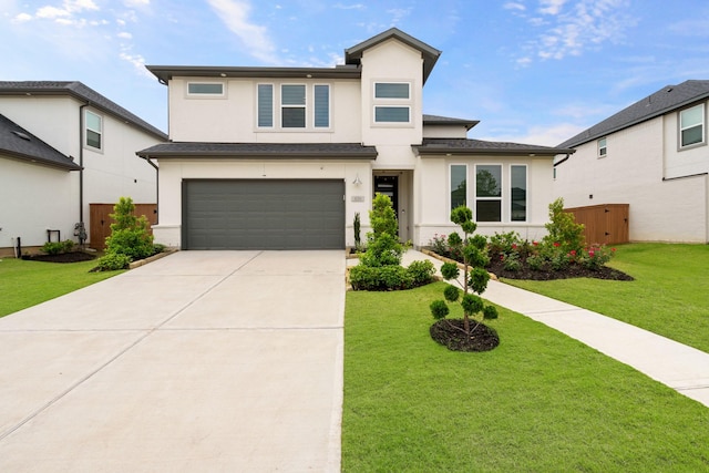
[[[636,280],[505,282],[709,352],[709,245],[621,245],[609,266]]]

